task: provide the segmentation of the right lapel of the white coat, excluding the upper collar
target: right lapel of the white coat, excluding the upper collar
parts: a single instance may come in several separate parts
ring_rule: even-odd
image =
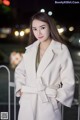
[[[52,40],[49,47],[45,51],[43,58],[40,61],[40,64],[37,69],[37,76],[41,76],[41,74],[44,72],[46,67],[52,61],[53,57],[54,57],[54,51],[53,51],[53,40]]]

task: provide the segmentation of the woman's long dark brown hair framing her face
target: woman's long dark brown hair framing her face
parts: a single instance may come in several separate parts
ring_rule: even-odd
[[[60,43],[64,43],[63,39],[61,38],[61,36],[58,33],[54,19],[52,19],[46,13],[38,12],[32,16],[31,21],[30,21],[29,44],[36,41],[36,38],[35,38],[33,31],[32,31],[32,22],[35,19],[46,22],[49,25],[51,39],[58,41]]]

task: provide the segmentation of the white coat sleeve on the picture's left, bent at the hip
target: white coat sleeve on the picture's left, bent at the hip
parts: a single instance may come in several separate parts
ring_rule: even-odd
[[[15,69],[14,78],[15,78],[16,96],[20,97],[19,90],[21,89],[22,85],[25,85],[25,79],[26,79],[26,71],[25,71],[23,58],[22,58],[22,61],[19,63],[19,65]]]

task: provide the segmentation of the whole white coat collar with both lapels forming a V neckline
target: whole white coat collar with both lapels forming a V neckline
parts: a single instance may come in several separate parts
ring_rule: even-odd
[[[36,55],[38,50],[39,41],[37,40],[31,46],[27,47],[27,50],[31,47],[31,52],[29,52],[29,63],[32,66],[33,71],[35,71],[36,75],[40,77],[45,69],[48,67],[50,62],[53,60],[55,54],[57,55],[61,51],[61,43],[56,42],[54,40],[51,41],[49,47],[45,51],[43,58],[41,59],[37,72],[36,72]]]

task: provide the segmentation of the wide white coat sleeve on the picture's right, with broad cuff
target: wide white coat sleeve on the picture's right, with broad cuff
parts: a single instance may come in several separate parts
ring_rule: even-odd
[[[71,107],[75,90],[74,68],[70,52],[65,45],[63,45],[62,51],[60,70],[62,87],[57,90],[56,99],[61,102],[61,104]]]

